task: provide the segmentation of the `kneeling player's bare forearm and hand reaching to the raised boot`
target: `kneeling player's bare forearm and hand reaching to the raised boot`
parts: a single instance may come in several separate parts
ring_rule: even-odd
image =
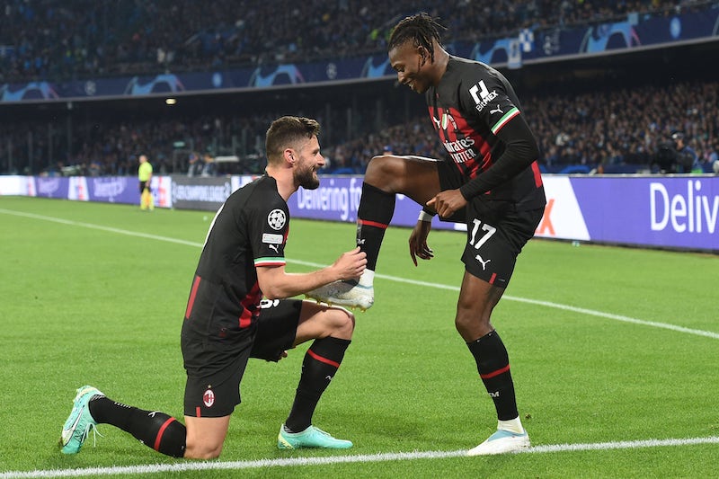
[[[322,270],[309,273],[288,273],[284,266],[257,268],[257,282],[268,299],[281,299],[306,293],[343,279],[357,279],[365,271],[367,254],[359,247],[342,253],[337,261]]]

